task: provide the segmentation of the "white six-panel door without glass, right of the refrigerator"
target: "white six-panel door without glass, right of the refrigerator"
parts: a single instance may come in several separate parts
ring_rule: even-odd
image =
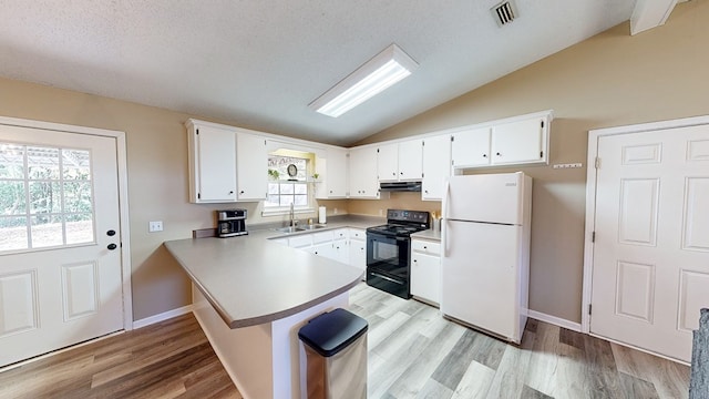
[[[709,126],[598,140],[590,331],[689,361],[709,307]]]

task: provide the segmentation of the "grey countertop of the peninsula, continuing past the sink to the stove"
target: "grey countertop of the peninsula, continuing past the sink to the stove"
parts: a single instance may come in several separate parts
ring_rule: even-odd
[[[352,219],[328,223],[327,228],[372,225]],[[363,270],[357,267],[268,239],[297,234],[249,231],[230,238],[169,241],[165,247],[224,321],[239,328],[295,315],[361,280]]]

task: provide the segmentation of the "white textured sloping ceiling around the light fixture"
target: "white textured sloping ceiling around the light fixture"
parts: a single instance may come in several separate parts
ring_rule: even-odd
[[[499,28],[497,2],[0,0],[0,75],[350,144],[627,21],[636,4],[515,0],[518,19]],[[338,119],[308,108],[392,42],[414,74]]]

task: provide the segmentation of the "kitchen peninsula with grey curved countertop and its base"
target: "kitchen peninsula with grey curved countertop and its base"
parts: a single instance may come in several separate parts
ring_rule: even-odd
[[[298,329],[347,307],[362,277],[356,267],[268,239],[274,236],[254,231],[165,243],[192,278],[195,316],[245,398],[301,397]]]

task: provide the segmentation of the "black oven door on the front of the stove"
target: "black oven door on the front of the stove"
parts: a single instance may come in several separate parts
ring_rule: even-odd
[[[367,233],[367,284],[410,298],[409,237]]]

